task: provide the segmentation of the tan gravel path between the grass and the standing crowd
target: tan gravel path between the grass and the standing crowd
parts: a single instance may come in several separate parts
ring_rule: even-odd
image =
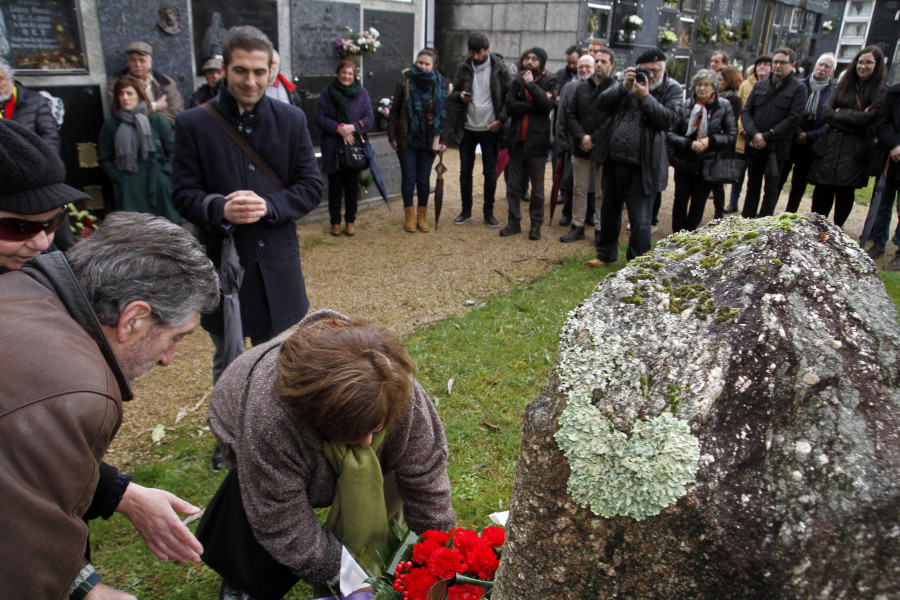
[[[448,150],[444,163],[444,206],[437,231],[433,209],[429,208],[430,233],[406,233],[399,201],[381,204],[357,217],[357,234],[348,238],[328,234],[327,219],[301,223],[300,235],[303,271],[312,303],[311,310],[332,308],[390,327],[402,334],[468,310],[467,300],[480,304],[488,296],[503,293],[522,282],[539,276],[565,257],[589,258],[593,236],[572,244],[562,244],[559,236],[559,208],[554,223],[544,222],[542,239],[527,239],[526,234],[500,238],[499,230],[481,220],[480,174],[476,174],[476,197],[471,221],[453,225],[459,213],[458,153]],[[476,167],[476,173],[480,165]],[[548,164],[547,180],[550,180]],[[673,184],[663,193],[660,231],[654,240],[671,233],[669,221]],[[549,184],[547,197],[549,198]],[[729,188],[730,189],[730,188]],[[495,215],[501,225],[506,221],[506,188],[502,179],[497,186]],[[779,204],[783,210],[785,197]],[[549,204],[549,203],[548,203]],[[801,210],[809,208],[804,200]],[[524,207],[523,207],[524,209]],[[527,209],[523,210],[527,213]],[[866,209],[856,206],[845,227],[858,238]],[[712,218],[712,202],[707,203],[704,222]],[[624,228],[623,228],[624,229]],[[622,241],[627,242],[623,231]],[[881,261],[889,259],[882,258]],[[880,262],[881,262],[880,261]],[[206,394],[211,387],[212,344],[202,330],[182,342],[168,368],[156,368],[135,384],[135,400],[125,409],[125,422],[111,448],[108,461],[122,468],[139,459],[150,444],[150,431],[157,425],[171,427],[187,423],[194,435],[208,436],[205,430]]]

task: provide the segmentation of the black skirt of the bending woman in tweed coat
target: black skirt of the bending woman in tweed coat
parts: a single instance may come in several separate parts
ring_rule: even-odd
[[[228,472],[197,526],[207,565],[254,600],[280,600],[300,578],[256,541],[238,484]]]

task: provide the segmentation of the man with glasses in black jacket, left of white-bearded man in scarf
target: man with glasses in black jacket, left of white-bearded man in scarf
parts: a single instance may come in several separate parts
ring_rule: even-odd
[[[753,86],[741,113],[748,141],[745,219],[774,214],[778,181],[791,151],[794,129],[806,106],[806,88],[794,77],[794,51],[779,48],[772,55],[772,74]],[[759,195],[765,177],[762,206]],[[758,212],[757,212],[757,209]]]

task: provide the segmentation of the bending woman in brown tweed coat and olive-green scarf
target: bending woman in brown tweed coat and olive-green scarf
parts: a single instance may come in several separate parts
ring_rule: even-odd
[[[456,522],[437,410],[382,327],[308,315],[231,363],[209,424],[255,539],[310,584],[334,586],[345,547],[365,565],[401,508],[418,533]]]

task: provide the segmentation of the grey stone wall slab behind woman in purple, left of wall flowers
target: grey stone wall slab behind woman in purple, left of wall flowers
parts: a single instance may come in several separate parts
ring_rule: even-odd
[[[348,27],[354,32],[359,31],[359,5],[295,0],[291,4],[291,15],[291,64],[294,75],[333,75],[339,60],[335,54],[335,43],[347,37]],[[409,31],[412,29],[407,30],[405,35]],[[384,37],[382,34],[382,44]]]

